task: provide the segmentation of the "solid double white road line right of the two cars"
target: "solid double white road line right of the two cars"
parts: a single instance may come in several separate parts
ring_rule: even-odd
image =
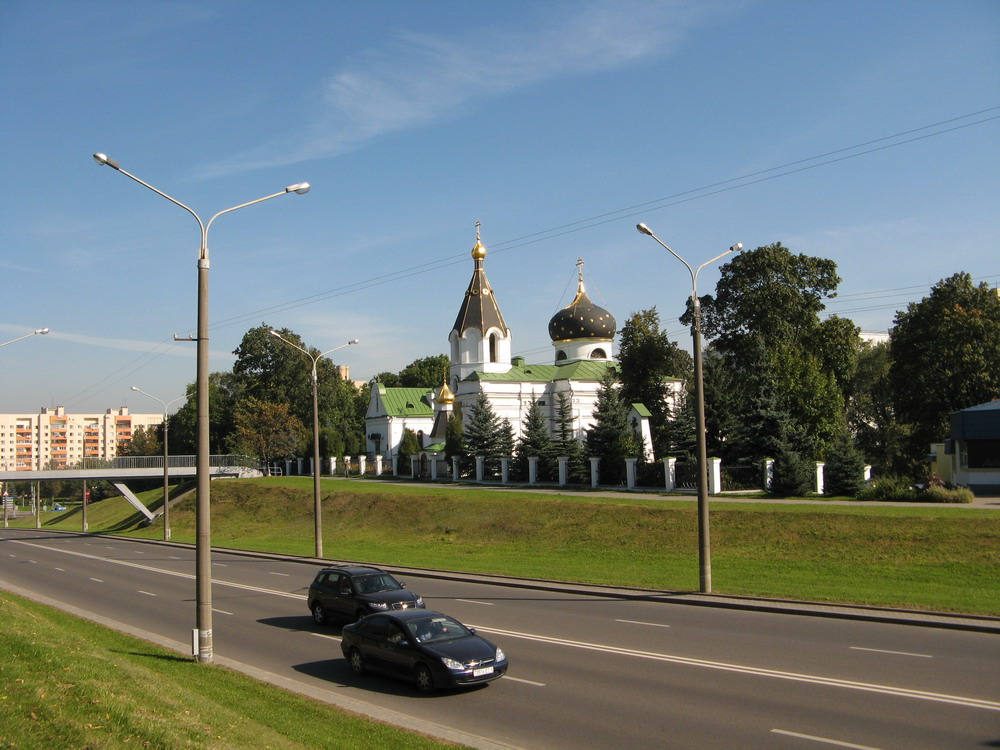
[[[982,708],[988,711],[1000,711],[1000,702],[984,700],[982,698],[967,698],[960,695],[932,693],[927,690],[911,690],[909,688],[893,687],[892,685],[876,685],[867,682],[855,682],[854,680],[841,680],[835,677],[820,677],[817,675],[798,674],[796,672],[782,672],[777,669],[765,669],[763,667],[749,667],[742,664],[727,664],[725,662],[708,661],[707,659],[693,659],[687,656],[675,656],[673,654],[660,654],[653,651],[638,651],[631,648],[606,646],[600,643],[586,643],[585,641],[571,641],[564,638],[551,638],[548,636],[535,635],[533,633],[521,633],[516,630],[500,630],[499,628],[489,628],[479,625],[475,627],[477,630],[484,633],[495,633],[508,638],[523,638],[528,641],[551,643],[556,646],[569,646],[570,648],[585,649],[587,651],[601,651],[608,654],[634,656],[640,659],[652,659],[654,661],[664,661],[673,664],[685,664],[687,666],[701,667],[703,669],[718,669],[726,672],[739,672],[742,674],[770,677],[778,680],[808,682],[814,685],[823,685],[826,687],[841,687],[847,688],[848,690],[860,690],[868,693],[882,693],[884,695],[895,695],[903,698],[913,698],[916,700],[934,701],[937,703],[952,703],[957,706],[966,706],[968,708]]]

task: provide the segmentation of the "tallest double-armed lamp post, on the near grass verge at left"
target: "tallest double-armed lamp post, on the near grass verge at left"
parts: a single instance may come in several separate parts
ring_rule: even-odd
[[[97,153],[94,154],[94,161],[96,161],[99,165],[111,167],[116,172],[121,172],[123,175],[135,180],[143,187],[149,188],[157,195],[166,198],[174,205],[180,206],[194,217],[195,221],[198,222],[198,227],[201,229],[201,247],[198,250],[198,354],[197,377],[195,380],[198,394],[198,448],[197,457],[195,459],[198,491],[198,504],[195,511],[195,524],[197,526],[195,538],[195,587],[197,590],[196,596],[198,600],[196,614],[196,637],[198,642],[198,661],[203,663],[212,662],[214,660],[214,641],[212,634],[212,530],[210,512],[211,506],[209,504],[209,484],[211,482],[211,475],[209,473],[210,466],[208,444],[208,230],[211,228],[213,221],[223,214],[230,213],[231,211],[246,208],[247,206],[252,206],[255,203],[261,203],[287,193],[297,193],[299,195],[308,193],[309,183],[302,182],[296,185],[289,185],[279,193],[265,195],[263,198],[258,198],[257,200],[249,201],[247,203],[241,203],[238,206],[233,206],[232,208],[219,211],[208,220],[208,223],[205,223],[192,209],[188,208],[175,198],[171,198],[162,190],[157,190],[148,182],[144,182],[135,175],[129,174],[121,168],[121,165],[117,161],[109,156]]]

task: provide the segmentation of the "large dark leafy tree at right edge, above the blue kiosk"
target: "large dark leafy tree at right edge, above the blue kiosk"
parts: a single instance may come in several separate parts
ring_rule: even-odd
[[[908,426],[904,462],[920,471],[952,412],[1000,397],[1000,297],[964,272],[896,314],[890,344],[896,414]]]

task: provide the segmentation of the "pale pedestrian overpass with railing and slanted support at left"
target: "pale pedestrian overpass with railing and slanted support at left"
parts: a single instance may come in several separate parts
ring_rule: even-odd
[[[170,456],[167,476],[184,479],[197,476],[196,456]],[[256,459],[249,456],[209,456],[209,474],[212,479],[222,477],[261,477]],[[163,456],[118,456],[110,460],[84,459],[78,466],[65,469],[32,471],[0,471],[0,482],[45,482],[105,480],[121,493],[136,510],[149,521],[156,514],[147,508],[126,485],[130,479],[156,479],[163,477]]]

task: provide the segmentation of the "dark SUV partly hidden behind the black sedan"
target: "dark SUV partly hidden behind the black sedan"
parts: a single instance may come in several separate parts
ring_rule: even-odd
[[[423,609],[424,600],[380,568],[323,568],[309,585],[309,611],[319,625],[331,617],[354,622],[372,612],[414,608]]]

